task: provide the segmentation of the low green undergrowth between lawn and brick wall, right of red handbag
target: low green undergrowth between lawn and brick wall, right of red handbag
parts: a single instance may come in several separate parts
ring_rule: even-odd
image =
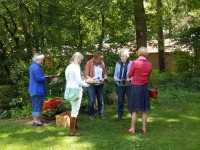
[[[158,73],[154,72],[158,104],[199,102],[200,77],[192,74]],[[152,80],[151,80],[152,81]]]

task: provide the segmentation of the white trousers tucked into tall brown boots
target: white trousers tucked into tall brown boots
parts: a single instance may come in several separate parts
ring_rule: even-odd
[[[77,118],[78,113],[79,113],[79,109],[81,107],[82,95],[83,95],[83,92],[81,90],[81,94],[80,94],[79,99],[77,101],[70,101],[70,103],[71,103],[71,117]]]

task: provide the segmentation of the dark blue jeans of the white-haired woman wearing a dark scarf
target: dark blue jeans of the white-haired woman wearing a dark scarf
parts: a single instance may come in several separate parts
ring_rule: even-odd
[[[118,95],[118,118],[122,118],[124,111],[124,98],[127,96],[128,100],[131,94],[131,86],[117,86]]]

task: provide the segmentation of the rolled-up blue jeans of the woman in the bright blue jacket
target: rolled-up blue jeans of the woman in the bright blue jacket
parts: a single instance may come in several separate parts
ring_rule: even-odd
[[[44,96],[43,95],[31,95],[32,99],[32,116],[39,117],[42,111]]]

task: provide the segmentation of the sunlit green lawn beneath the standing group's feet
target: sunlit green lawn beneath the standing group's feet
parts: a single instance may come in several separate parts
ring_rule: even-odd
[[[199,150],[199,110],[200,103],[154,103],[146,135],[140,132],[141,119],[136,135],[128,134],[130,114],[125,111],[124,119],[117,121],[116,106],[105,107],[107,120],[90,121],[80,113],[80,137],[68,136],[69,128],[56,127],[55,121],[35,128],[29,119],[0,120],[0,150]]]

